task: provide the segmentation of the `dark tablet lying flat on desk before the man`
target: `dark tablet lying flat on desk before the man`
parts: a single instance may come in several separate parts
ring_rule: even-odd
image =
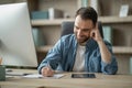
[[[72,74],[72,78],[96,78],[95,74]]]

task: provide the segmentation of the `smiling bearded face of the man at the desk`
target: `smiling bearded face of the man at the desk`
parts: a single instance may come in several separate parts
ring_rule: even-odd
[[[81,45],[90,38],[90,32],[94,29],[94,23],[91,20],[82,20],[80,15],[75,19],[74,33],[76,35],[77,42]]]

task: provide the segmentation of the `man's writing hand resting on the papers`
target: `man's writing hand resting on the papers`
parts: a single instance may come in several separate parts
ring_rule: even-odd
[[[51,67],[48,67],[48,66],[47,67],[43,67],[41,69],[41,73],[45,77],[51,77],[51,76],[53,76],[55,74],[55,72]]]

